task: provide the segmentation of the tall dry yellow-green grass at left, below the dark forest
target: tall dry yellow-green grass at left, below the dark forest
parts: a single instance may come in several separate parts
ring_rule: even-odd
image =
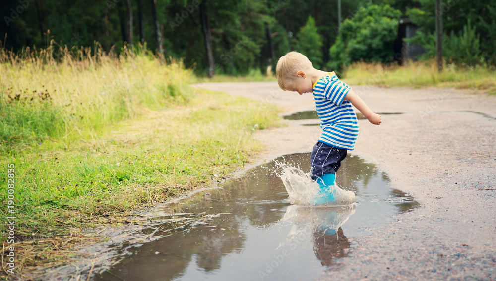
[[[80,137],[184,103],[191,78],[181,61],[162,64],[143,46],[121,56],[53,41],[18,54],[0,48],[0,150]]]

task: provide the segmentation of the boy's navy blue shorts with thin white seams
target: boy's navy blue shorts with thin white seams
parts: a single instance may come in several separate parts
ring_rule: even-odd
[[[310,155],[310,174],[313,179],[326,173],[336,173],[347,150],[317,142]]]

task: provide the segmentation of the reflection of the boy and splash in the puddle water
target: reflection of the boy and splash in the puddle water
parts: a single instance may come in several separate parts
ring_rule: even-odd
[[[322,265],[330,266],[334,259],[343,258],[349,253],[350,242],[340,226],[355,213],[355,208],[355,204],[332,207],[289,206],[284,217],[294,221],[285,241],[295,240],[295,237],[310,229],[315,256]]]

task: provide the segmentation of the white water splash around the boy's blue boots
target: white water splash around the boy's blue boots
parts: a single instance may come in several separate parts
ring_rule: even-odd
[[[319,194],[320,187],[318,183],[311,179],[310,174],[304,173],[301,169],[289,166],[285,163],[276,161],[276,166],[282,171],[277,175],[281,178],[289,194],[291,204],[297,205],[320,205],[316,199],[326,194]],[[325,205],[347,205],[356,202],[355,193],[349,190],[343,190],[337,184],[330,188],[336,198],[335,201]]]

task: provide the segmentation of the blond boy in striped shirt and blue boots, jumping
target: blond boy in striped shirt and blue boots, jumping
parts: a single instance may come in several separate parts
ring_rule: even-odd
[[[382,122],[380,115],[372,112],[365,102],[334,72],[313,68],[310,60],[298,52],[289,52],[279,58],[276,67],[277,83],[284,91],[313,93],[322,134],[310,156],[312,179],[320,186],[319,194],[327,198],[318,203],[334,201],[330,186],[335,184],[336,172],[347,150],[353,150],[358,136],[355,106],[375,125]]]

